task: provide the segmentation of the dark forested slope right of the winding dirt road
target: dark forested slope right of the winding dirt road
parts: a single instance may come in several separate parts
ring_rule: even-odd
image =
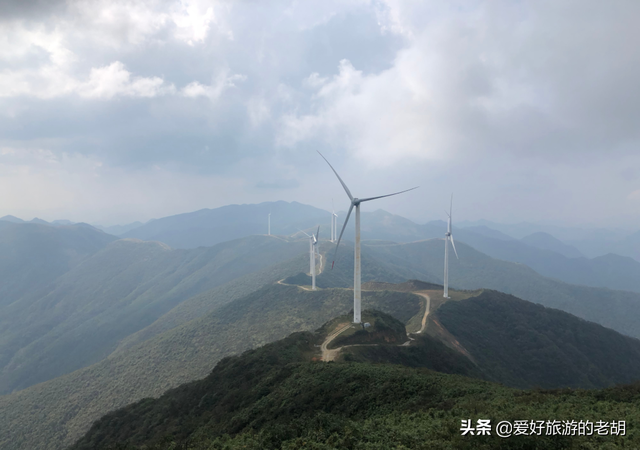
[[[640,341],[571,314],[484,290],[433,313],[495,381],[529,388],[640,380]]]

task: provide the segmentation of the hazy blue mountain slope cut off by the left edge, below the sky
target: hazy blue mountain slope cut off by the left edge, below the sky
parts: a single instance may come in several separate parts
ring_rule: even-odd
[[[49,283],[116,239],[86,224],[0,221],[0,311],[22,297],[44,295]],[[0,321],[7,314],[0,313]]]

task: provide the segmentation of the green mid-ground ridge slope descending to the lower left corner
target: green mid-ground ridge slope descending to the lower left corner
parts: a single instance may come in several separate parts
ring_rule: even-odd
[[[348,290],[265,286],[93,366],[0,397],[0,448],[70,445],[106,412],[202,378],[225,356],[316,329],[352,304]],[[363,304],[403,322],[420,308],[402,292],[364,292]]]

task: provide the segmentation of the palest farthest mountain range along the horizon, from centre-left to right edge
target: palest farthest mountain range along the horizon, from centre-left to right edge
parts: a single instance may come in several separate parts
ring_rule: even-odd
[[[328,234],[330,216],[326,211],[295,202],[274,202],[230,205],[165,217],[128,231],[123,236],[158,240],[177,248],[207,246],[232,237],[264,233],[265,217],[269,211],[272,211],[273,234],[293,234],[298,229],[318,224],[321,226],[321,236]],[[527,225],[525,229],[532,227]],[[362,213],[361,229],[363,239],[412,242],[444,236],[446,223],[432,221],[419,225],[379,209]],[[536,232],[519,240],[486,225],[474,225],[456,228],[454,236],[456,242],[465,242],[489,256],[526,264],[544,276],[567,283],[640,292],[640,266],[634,261],[594,261],[580,257],[582,254],[579,250],[548,233]],[[353,227],[349,226],[345,229],[343,239],[353,238]],[[607,261],[611,265],[607,266]],[[621,277],[617,271],[633,275]]]

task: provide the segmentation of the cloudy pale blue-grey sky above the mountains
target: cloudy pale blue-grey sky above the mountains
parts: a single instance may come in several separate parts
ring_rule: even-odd
[[[0,216],[640,228],[637,1],[0,2]]]

